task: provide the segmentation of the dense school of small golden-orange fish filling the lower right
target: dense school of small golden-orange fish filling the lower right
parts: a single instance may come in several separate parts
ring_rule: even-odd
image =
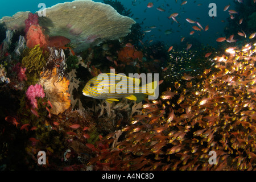
[[[254,169],[255,46],[226,49],[214,58],[214,69],[144,104],[122,134],[96,142],[90,164],[110,170]],[[117,142],[117,134],[125,138]],[[105,151],[102,144],[112,147]],[[216,165],[209,164],[209,151],[216,152]]]

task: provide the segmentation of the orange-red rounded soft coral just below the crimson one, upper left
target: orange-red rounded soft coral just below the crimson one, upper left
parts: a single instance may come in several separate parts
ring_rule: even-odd
[[[26,38],[28,48],[33,48],[39,44],[40,47],[47,49],[49,44],[48,36],[44,35],[44,30],[39,25],[32,24],[28,29]]]

